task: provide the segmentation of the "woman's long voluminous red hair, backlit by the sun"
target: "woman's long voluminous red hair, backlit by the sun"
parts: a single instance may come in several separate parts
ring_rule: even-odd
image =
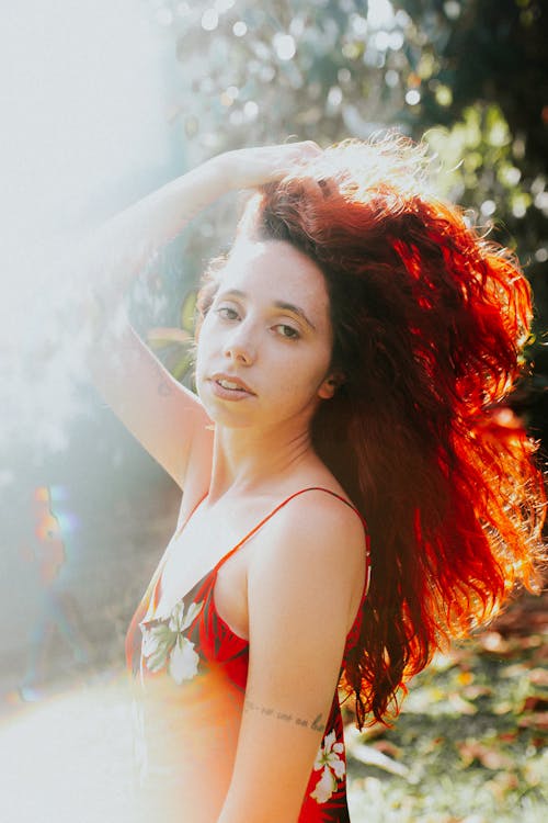
[[[366,715],[447,639],[538,586],[535,444],[495,413],[520,374],[532,295],[517,261],[427,185],[424,146],[346,140],[271,183],[239,233],[285,240],[326,278],[344,375],[315,448],[364,515],[372,583],[342,686]],[[372,719],[372,720],[373,720]]]

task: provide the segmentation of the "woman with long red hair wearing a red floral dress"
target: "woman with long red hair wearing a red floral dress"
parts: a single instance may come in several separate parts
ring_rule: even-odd
[[[123,368],[95,368],[184,489],[127,635],[144,818],[347,821],[338,685],[383,720],[446,638],[535,586],[541,477],[494,405],[528,285],[424,168],[396,136],[230,151],[104,230],[118,289],[259,188],[201,292],[198,397],[119,319]]]

